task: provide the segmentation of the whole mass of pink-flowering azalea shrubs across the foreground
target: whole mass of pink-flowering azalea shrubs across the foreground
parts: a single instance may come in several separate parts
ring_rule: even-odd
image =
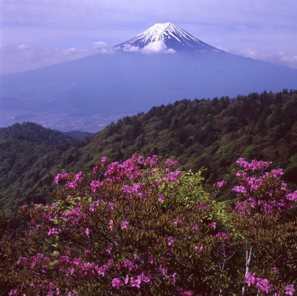
[[[28,231],[3,241],[16,257],[1,262],[2,285],[9,295],[293,295],[296,192],[280,171],[249,176],[268,163],[239,164],[233,210],[203,191],[200,173],[156,155],[59,174],[55,202],[23,206]]]

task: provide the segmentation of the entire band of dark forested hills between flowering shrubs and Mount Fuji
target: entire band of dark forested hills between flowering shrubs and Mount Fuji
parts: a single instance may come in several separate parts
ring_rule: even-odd
[[[58,172],[88,170],[102,156],[120,160],[134,152],[173,157],[182,170],[205,168],[209,190],[222,179],[232,185],[238,157],[272,161],[292,188],[297,184],[297,90],[181,100],[125,117],[79,143],[26,124],[0,129],[0,198],[9,215],[23,203],[48,200]],[[226,192],[220,198],[231,198]]]

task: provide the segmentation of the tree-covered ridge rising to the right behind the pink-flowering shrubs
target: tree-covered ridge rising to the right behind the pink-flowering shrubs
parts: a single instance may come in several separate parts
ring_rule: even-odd
[[[111,123],[76,151],[67,170],[89,169],[99,157],[137,152],[174,157],[181,169],[205,168],[207,184],[231,181],[238,157],[268,159],[297,183],[297,91],[213,100],[182,100]]]

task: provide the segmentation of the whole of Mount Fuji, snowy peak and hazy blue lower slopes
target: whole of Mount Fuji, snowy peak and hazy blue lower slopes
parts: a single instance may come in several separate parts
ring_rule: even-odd
[[[297,88],[297,69],[230,54],[172,23],[155,24],[112,53],[0,75],[0,126],[34,121],[97,132],[185,98]]]

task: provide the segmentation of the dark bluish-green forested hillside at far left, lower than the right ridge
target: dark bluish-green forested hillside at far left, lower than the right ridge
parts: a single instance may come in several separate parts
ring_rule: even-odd
[[[54,189],[51,169],[77,142],[30,122],[0,129],[0,208],[7,216],[24,203],[49,198]]]

